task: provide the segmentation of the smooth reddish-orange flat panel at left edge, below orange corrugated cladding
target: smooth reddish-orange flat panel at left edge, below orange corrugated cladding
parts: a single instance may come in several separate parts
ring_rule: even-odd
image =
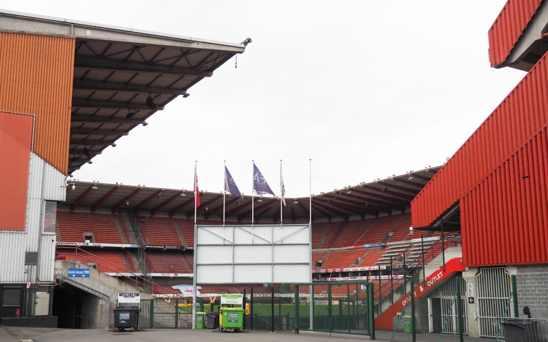
[[[0,230],[25,230],[32,117],[0,113]]]

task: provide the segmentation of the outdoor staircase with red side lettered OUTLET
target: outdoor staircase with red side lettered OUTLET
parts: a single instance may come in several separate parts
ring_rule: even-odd
[[[442,254],[441,241],[436,241],[424,253],[424,271],[422,253],[415,259],[406,262],[406,268],[402,268],[394,274],[393,281],[381,282],[376,286],[373,297],[375,298],[375,328],[393,329],[393,317],[402,312],[403,308],[410,305],[411,282],[414,284],[414,299],[417,300],[441,286],[455,273],[464,271],[460,239],[449,239],[444,255]],[[453,246],[453,247],[452,247]],[[445,264],[443,260],[446,260]],[[423,278],[426,275],[426,279]],[[405,281],[402,279],[405,276]]]

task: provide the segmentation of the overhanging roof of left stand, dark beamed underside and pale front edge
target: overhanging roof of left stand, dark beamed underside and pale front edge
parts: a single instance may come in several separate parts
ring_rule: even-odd
[[[245,49],[7,10],[0,10],[0,30],[76,39],[69,173]]]

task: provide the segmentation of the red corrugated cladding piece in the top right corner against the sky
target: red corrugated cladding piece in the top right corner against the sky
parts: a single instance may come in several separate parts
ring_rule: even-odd
[[[492,67],[504,63],[541,2],[542,0],[506,2],[489,28],[489,61]]]

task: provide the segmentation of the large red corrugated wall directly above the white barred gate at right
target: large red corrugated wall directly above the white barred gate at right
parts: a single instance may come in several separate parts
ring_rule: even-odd
[[[466,266],[548,263],[545,126],[461,200]]]

